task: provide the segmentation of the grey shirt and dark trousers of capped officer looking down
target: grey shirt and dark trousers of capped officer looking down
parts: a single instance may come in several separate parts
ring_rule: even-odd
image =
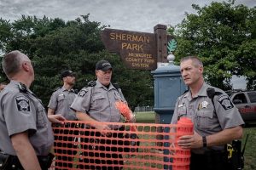
[[[113,84],[110,83],[109,87],[106,88],[102,85],[102,83],[96,81],[91,87],[88,88],[82,88],[79,92],[79,95],[76,99],[74,99],[73,104],[71,105],[71,108],[87,113],[90,117],[95,119],[99,122],[121,122],[121,116],[119,114],[119,111],[115,108],[115,102],[122,100],[123,102],[126,102],[121,90],[118,88],[114,88]],[[112,127],[114,130],[118,130],[117,132],[124,131],[124,127],[118,127],[118,126],[109,126]],[[111,153],[108,154],[99,154],[97,153],[98,150],[106,151],[106,148],[104,146],[99,147],[98,143],[101,144],[120,144],[120,142],[116,142],[116,138],[123,138],[123,133],[112,133],[111,140],[108,138],[101,139],[99,141],[98,139],[95,139],[95,136],[101,136],[101,133],[93,131],[86,131],[84,132],[84,138],[81,139],[81,142],[84,143],[83,147],[84,150],[92,150],[92,151],[86,151],[83,153],[85,163],[81,164],[79,166],[80,169],[102,169],[102,170],[112,170],[112,169],[122,169],[122,167],[119,167],[118,165],[123,165],[122,161],[122,155],[115,153],[117,151],[116,147],[111,147]],[[123,145],[123,144],[120,144]],[[122,150],[122,149],[121,149]],[[100,157],[100,159],[89,159],[92,156]],[[112,160],[104,161],[102,159],[106,157],[111,157]],[[102,159],[101,159],[102,158]],[[117,160],[116,158],[119,158]],[[96,165],[99,166],[92,166],[90,163],[96,163]],[[103,167],[101,165],[107,164]],[[115,167],[116,166],[116,167]]]

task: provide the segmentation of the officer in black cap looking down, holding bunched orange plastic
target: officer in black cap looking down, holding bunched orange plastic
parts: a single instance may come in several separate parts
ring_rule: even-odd
[[[79,92],[79,96],[74,99],[71,108],[76,111],[77,117],[80,121],[91,122],[90,126],[102,130],[116,129],[118,130],[121,127],[108,126],[106,124],[98,124],[94,122],[121,122],[121,116],[119,111],[115,108],[114,103],[118,100],[126,102],[121,90],[115,88],[111,83],[112,77],[112,65],[107,60],[100,60],[96,63],[96,77],[97,80],[95,83],[91,83],[90,87],[82,88]],[[102,135],[107,135],[108,133],[101,132]],[[101,133],[96,133],[96,136],[101,136]],[[85,133],[85,136],[93,136],[94,134]],[[112,139],[119,138],[120,134],[112,134]],[[121,137],[120,137],[121,138]],[[86,142],[89,139],[84,139]],[[95,143],[97,143],[96,141]],[[110,140],[106,142],[101,140],[102,144],[110,144]],[[84,144],[84,149],[90,149],[90,146]],[[116,147],[115,147],[116,148]],[[97,150],[94,148],[93,150]],[[99,150],[104,150],[100,148]],[[106,150],[105,150],[106,151]],[[116,150],[115,150],[116,151]],[[88,153],[84,153],[84,156],[88,157]],[[89,153],[89,156],[93,156],[93,152]],[[96,160],[97,164],[108,164],[107,167],[80,167],[85,169],[121,169],[122,167],[113,167],[113,165],[122,165],[123,161],[114,160],[115,158],[121,158],[121,155],[112,154],[112,155],[100,155],[103,157],[111,157],[113,160],[109,161],[100,161]],[[88,163],[89,161],[85,158],[84,162]],[[93,161],[92,161],[93,162]],[[110,166],[112,165],[112,166]]]

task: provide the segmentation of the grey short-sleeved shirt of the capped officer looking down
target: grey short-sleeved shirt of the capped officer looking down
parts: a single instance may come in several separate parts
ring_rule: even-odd
[[[114,88],[112,83],[106,88],[96,81],[95,86],[81,89],[71,108],[88,113],[99,122],[121,122],[119,111],[114,105],[119,100],[126,102],[120,88]]]

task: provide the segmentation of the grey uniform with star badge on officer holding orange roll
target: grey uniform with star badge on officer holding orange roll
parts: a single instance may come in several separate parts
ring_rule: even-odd
[[[213,88],[215,95],[209,98],[207,88]],[[191,93],[187,92],[177,99],[175,111],[172,117],[172,124],[177,124],[180,117],[187,116],[194,122],[196,133],[201,136],[207,136],[218,133],[223,129],[236,127],[244,124],[241,115],[230,101],[230,98],[223,90],[203,84],[195,98],[191,97]],[[206,144],[206,142],[205,142]],[[206,146],[204,144],[204,146]],[[224,145],[202,147],[200,149],[191,150],[192,158],[195,156],[216,155],[215,158],[224,161],[225,157]],[[206,162],[210,163],[210,162]]]

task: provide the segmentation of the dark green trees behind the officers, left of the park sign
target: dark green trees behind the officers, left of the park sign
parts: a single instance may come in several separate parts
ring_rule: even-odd
[[[153,80],[149,71],[127,70],[118,55],[109,54],[100,33],[105,26],[90,21],[89,14],[65,23],[61,19],[22,15],[10,23],[0,20],[0,52],[18,49],[32,59],[35,81],[32,91],[48,105],[53,90],[61,86],[60,72],[71,69],[77,74],[74,88],[81,89],[94,80],[99,59],[113,65],[113,81],[120,87],[131,109],[137,105],[153,105]],[[7,80],[3,71],[1,81]],[[142,78],[143,77],[143,78]]]

